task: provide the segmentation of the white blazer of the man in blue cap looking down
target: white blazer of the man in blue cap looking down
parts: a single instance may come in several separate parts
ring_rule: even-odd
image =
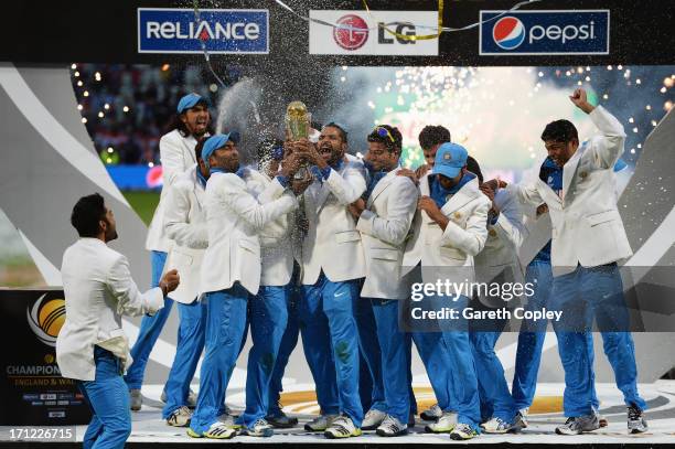
[[[419,191],[421,195],[430,195],[429,173],[419,180]],[[417,211],[413,222],[413,238],[408,240],[404,255],[403,274],[408,274],[419,263],[422,268],[473,267],[473,257],[485,246],[488,211],[491,205],[488,196],[479,190],[476,178],[464,184],[441,207],[443,215],[450,218],[446,231],[441,231],[426,212]],[[431,271],[422,269],[425,282],[437,280],[432,278]],[[472,268],[461,274],[458,271],[457,281],[465,280],[473,280]]]

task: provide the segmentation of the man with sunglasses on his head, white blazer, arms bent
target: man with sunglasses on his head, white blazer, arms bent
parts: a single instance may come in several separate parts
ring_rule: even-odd
[[[406,177],[396,174],[403,137],[398,128],[376,127],[367,137],[364,162],[368,170],[366,192],[350,207],[365,253],[366,276],[358,308],[369,309],[357,317],[374,317],[375,325],[358,319],[363,357],[384,391],[382,404],[366,413],[363,429],[383,437],[407,434],[410,413],[408,366],[411,339],[398,327],[398,303],[410,296],[410,286],[400,275],[406,237],[417,209],[418,191]],[[365,322],[364,322],[365,321]],[[374,350],[364,341],[374,340]]]

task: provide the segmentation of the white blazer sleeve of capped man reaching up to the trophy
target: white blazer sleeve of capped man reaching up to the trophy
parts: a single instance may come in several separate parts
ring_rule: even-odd
[[[283,193],[278,200],[260,204],[246,189],[238,186],[236,181],[229,182],[227,177],[236,177],[236,174],[224,177],[218,186],[219,200],[257,232],[262,231],[269,222],[298,207],[298,200],[290,192]]]

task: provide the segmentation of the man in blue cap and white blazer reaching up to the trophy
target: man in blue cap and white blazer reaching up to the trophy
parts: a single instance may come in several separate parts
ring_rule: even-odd
[[[200,394],[188,435],[225,439],[236,430],[217,417],[244,336],[248,296],[257,295],[260,286],[258,234],[297,209],[298,202],[286,190],[278,199],[260,204],[242,179],[239,154],[228,135],[210,137],[202,159],[211,170],[205,192],[208,247],[200,277],[207,319]],[[255,427],[244,428],[244,432],[256,435]]]

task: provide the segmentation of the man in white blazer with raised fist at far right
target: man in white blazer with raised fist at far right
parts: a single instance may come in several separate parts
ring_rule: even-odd
[[[553,224],[551,302],[562,318],[555,322],[558,351],[565,367],[565,416],[556,429],[578,435],[599,427],[593,409],[592,349],[586,333],[597,319],[604,352],[628,406],[629,432],[646,431],[646,404],[638,393],[638,367],[630,318],[617,261],[632,250],[617,209],[613,168],[623,152],[623,126],[602,106],[588,103],[579,88],[571,101],[589,115],[602,132],[579,146],[575,126],[567,120],[548,124],[542,133],[550,159],[562,168],[560,191],[543,180],[508,188],[533,205],[546,203]]]

